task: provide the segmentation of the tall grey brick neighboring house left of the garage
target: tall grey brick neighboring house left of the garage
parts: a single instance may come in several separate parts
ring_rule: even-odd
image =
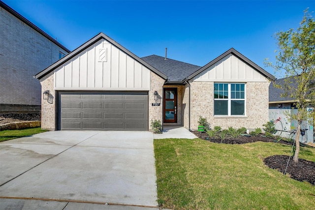
[[[0,113],[39,113],[42,92],[33,76],[69,52],[0,0]]]

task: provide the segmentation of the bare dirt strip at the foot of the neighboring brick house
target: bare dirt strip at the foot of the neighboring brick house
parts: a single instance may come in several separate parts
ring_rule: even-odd
[[[40,114],[0,114],[0,125],[21,121],[41,120]]]

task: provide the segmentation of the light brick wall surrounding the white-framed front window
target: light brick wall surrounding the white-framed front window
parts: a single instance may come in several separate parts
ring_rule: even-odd
[[[247,129],[262,128],[268,121],[269,82],[246,83],[246,116],[215,117],[213,109],[214,82],[191,82],[191,113],[190,129],[196,130],[199,116],[207,118],[211,127],[220,125],[223,129],[246,127]],[[188,88],[185,91],[188,94]],[[185,96],[186,97],[186,96]],[[186,99],[185,99],[186,101]],[[188,110],[187,110],[188,112]],[[185,117],[185,120],[188,117]],[[188,122],[184,122],[188,127]]]

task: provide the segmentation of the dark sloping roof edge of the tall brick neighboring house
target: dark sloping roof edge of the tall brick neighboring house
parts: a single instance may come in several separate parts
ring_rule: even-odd
[[[5,9],[6,11],[8,11],[9,13],[11,13],[13,16],[15,16],[16,18],[18,18],[19,20],[21,20],[22,22],[24,22],[25,24],[27,24],[29,27],[31,27],[33,30],[37,31],[38,33],[40,33],[42,36],[46,37],[48,40],[50,40],[51,42],[53,42],[54,44],[56,44],[57,46],[59,46],[60,48],[62,48],[64,51],[66,51],[67,53],[70,52],[69,49],[67,49],[66,47],[64,47],[61,43],[59,43],[56,39],[54,39],[53,37],[51,37],[50,35],[48,35],[47,33],[45,33],[43,30],[39,29],[37,26],[35,26],[34,24],[32,24],[29,20],[27,20],[25,17],[23,17],[22,15],[20,15],[18,12],[16,12],[14,9],[12,9],[11,7],[9,7],[7,4],[5,4],[3,1],[0,0],[0,7],[2,7],[3,9]]]

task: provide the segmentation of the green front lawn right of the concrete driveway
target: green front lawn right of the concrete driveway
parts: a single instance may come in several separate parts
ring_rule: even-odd
[[[314,209],[315,186],[264,165],[291,146],[255,142],[227,145],[200,139],[154,140],[158,203],[176,210]],[[300,158],[315,161],[315,149]]]

